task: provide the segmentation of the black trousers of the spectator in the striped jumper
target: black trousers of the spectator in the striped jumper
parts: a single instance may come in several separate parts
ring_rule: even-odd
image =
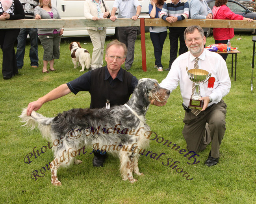
[[[184,31],[186,28],[169,27],[169,39],[170,39],[170,61],[169,67],[172,66],[173,61],[177,58],[178,53],[178,40],[180,38],[179,55],[187,52],[187,46],[184,40]]]

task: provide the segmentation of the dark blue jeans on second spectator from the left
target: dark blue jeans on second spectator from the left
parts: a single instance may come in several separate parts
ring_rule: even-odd
[[[37,66],[38,67],[38,53],[37,53],[37,28],[22,28],[20,29],[20,34],[18,36],[18,44],[17,44],[17,52],[16,52],[16,59],[17,59],[17,67],[21,69],[24,62],[24,55],[25,55],[25,48],[26,48],[26,39],[27,36],[30,37],[30,66]]]

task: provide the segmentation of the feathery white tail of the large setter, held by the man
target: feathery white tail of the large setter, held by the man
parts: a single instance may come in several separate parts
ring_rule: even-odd
[[[19,117],[21,118],[22,122],[25,123],[22,126],[31,126],[31,129],[34,129],[37,123],[38,129],[41,131],[43,137],[50,138],[51,124],[54,118],[46,118],[34,110],[32,111],[31,116],[27,116],[27,108],[23,109]]]

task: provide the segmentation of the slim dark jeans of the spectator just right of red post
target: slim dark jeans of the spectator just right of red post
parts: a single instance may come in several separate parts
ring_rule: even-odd
[[[167,36],[167,31],[163,31],[161,33],[150,32],[150,39],[154,46],[154,54],[156,59],[155,65],[157,65],[158,67],[163,67],[161,63],[161,57],[163,52],[163,44],[165,42],[166,36]]]

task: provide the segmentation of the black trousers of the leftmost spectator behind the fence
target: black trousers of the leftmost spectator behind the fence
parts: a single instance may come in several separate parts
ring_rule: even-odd
[[[7,77],[18,74],[14,43],[19,33],[20,29],[0,29],[0,45],[3,51],[2,74]]]

